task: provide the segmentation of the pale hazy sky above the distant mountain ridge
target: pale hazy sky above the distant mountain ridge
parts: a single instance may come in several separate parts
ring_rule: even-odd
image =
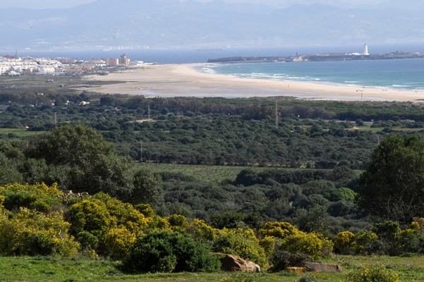
[[[77,6],[79,4],[86,4],[95,0],[0,0],[1,8],[67,8],[71,6]],[[110,1],[121,1],[121,0],[110,0]],[[154,0],[152,0],[154,1]],[[208,2],[211,0],[199,0],[201,2]],[[233,3],[264,3],[264,4],[282,4],[285,1],[290,0],[224,0]],[[293,1],[293,0],[292,0]],[[324,0],[317,0],[316,2],[322,2]],[[351,4],[378,4],[384,2],[384,0],[344,0],[346,3]],[[299,0],[302,3],[301,0]]]

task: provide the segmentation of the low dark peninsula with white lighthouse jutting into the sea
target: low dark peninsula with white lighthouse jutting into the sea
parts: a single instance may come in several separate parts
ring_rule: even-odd
[[[308,62],[308,61],[365,61],[387,59],[424,58],[419,52],[394,51],[388,54],[368,54],[367,45],[363,53],[296,54],[295,56],[232,56],[209,59],[208,63],[270,63],[270,62]]]

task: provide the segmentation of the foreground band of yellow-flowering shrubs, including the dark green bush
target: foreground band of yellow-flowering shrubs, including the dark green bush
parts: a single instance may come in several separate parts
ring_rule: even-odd
[[[102,256],[122,259],[122,269],[131,273],[216,271],[218,258],[211,251],[279,271],[333,251],[372,254],[387,247],[397,253],[423,252],[424,243],[424,219],[404,229],[388,221],[334,238],[278,221],[256,229],[214,228],[181,215],[158,216],[148,204],[124,203],[102,192],[64,194],[45,184],[1,187],[0,221],[2,255]]]

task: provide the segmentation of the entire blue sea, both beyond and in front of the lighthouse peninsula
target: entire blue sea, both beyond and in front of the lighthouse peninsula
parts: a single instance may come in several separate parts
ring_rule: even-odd
[[[370,54],[384,54],[393,51],[419,51],[422,54],[424,52],[424,46],[421,44],[382,44],[379,46],[368,44],[368,47]],[[424,59],[300,63],[207,63],[208,59],[230,56],[294,56],[296,54],[336,52],[360,53],[362,48],[363,44],[355,46],[222,47],[211,49],[22,50],[18,51],[18,56],[46,56],[51,58],[61,56],[76,59],[93,59],[117,58],[122,54],[126,54],[132,61],[145,61],[147,63],[200,63],[200,66],[196,67],[199,71],[235,75],[240,78],[296,80],[331,85],[424,91]],[[4,53],[4,51],[1,53]]]

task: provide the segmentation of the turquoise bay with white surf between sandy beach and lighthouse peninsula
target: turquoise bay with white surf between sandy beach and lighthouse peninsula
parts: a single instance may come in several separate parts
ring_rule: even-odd
[[[201,71],[240,78],[424,91],[424,59],[211,64]]]

